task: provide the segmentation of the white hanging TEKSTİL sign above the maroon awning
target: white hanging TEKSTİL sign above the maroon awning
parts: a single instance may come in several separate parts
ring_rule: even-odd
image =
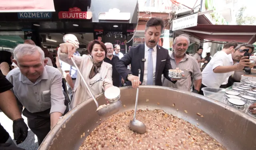
[[[197,26],[198,13],[172,20],[172,31]]]

